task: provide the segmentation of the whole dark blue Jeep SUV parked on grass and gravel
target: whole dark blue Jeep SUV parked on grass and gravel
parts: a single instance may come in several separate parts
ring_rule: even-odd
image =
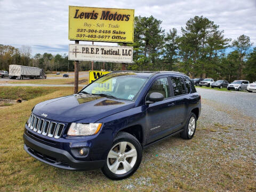
[[[124,179],[142,150],[174,134],[193,138],[201,96],[189,77],[172,71],[116,71],[77,94],[38,103],[25,125],[26,152],[68,170],[101,168]]]

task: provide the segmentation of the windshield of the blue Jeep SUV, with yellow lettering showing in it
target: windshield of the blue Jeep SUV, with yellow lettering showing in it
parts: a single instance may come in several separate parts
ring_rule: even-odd
[[[113,99],[133,100],[147,78],[133,76],[134,73],[113,73],[99,78],[81,92],[101,95]]]

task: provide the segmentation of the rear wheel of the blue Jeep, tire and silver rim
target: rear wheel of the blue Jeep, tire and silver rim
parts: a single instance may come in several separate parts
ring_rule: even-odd
[[[192,139],[196,132],[196,115],[191,113],[187,124],[184,127],[183,132],[181,132],[180,137],[183,139]]]

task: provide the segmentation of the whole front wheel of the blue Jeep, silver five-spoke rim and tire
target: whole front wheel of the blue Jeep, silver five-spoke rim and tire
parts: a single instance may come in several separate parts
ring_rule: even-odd
[[[140,142],[130,133],[119,132],[101,171],[109,179],[125,179],[138,169],[141,159],[142,147]]]

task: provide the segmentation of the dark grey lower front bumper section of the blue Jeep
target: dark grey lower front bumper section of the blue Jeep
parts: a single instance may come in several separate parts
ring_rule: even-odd
[[[105,164],[105,160],[78,161],[66,150],[58,149],[35,141],[23,134],[24,149],[32,157],[46,164],[66,170],[94,170]]]

